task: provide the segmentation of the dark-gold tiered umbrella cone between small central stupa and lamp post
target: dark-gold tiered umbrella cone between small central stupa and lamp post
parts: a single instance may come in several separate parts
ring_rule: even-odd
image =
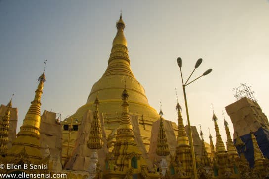
[[[157,148],[156,148],[156,153],[159,156],[166,156],[170,154],[168,144],[167,144],[167,138],[165,134],[165,129],[163,125],[163,111],[162,111],[162,104],[161,104],[161,109],[160,109],[160,127],[159,127],[159,132],[158,132],[158,139],[157,139]]]

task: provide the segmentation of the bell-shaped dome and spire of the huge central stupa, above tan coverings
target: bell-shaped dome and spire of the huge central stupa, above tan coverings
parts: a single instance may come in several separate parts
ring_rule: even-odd
[[[117,22],[118,32],[113,40],[108,67],[103,76],[92,86],[87,103],[81,106],[73,117],[82,116],[88,109],[94,111],[93,103],[97,93],[99,93],[99,111],[101,113],[121,114],[121,95],[126,82],[130,114],[143,115],[152,122],[158,120],[157,111],[149,105],[144,88],[136,80],[131,70],[127,42],[123,34],[124,27],[125,24],[120,16]]]

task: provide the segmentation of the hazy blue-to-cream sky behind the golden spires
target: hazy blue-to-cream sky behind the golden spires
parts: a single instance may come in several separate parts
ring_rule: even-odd
[[[185,79],[198,58],[193,78],[213,71],[186,88],[191,125],[215,136],[211,103],[226,139],[222,110],[236,99],[234,87],[247,83],[269,114],[269,1],[267,0],[0,0],[0,103],[12,93],[18,128],[34,98],[47,59],[42,96],[46,109],[62,120],[86,103],[109,58],[122,9],[131,68],[149,103],[176,122],[184,107],[177,57]],[[230,118],[225,113],[233,134]],[[215,137],[214,137],[215,141]]]

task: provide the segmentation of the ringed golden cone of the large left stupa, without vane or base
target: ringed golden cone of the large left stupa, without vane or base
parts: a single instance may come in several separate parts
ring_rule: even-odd
[[[25,115],[23,124],[20,127],[20,132],[17,138],[13,141],[12,147],[7,151],[6,157],[19,157],[21,151],[29,156],[31,162],[39,162],[42,158],[40,153],[40,106],[41,96],[43,93],[43,85],[46,81],[45,74],[39,77],[39,84],[35,91],[35,98],[31,102],[31,106]]]

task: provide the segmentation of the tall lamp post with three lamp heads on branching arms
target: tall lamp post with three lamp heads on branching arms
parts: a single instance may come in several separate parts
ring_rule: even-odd
[[[191,132],[191,127],[190,127],[190,122],[189,122],[189,111],[188,111],[188,104],[187,104],[187,97],[186,97],[185,87],[187,85],[189,85],[190,83],[194,82],[195,80],[201,78],[202,76],[205,76],[205,75],[209,74],[212,71],[212,69],[208,69],[201,76],[199,76],[196,79],[192,80],[191,82],[187,83],[189,81],[191,75],[195,71],[195,69],[198,68],[201,65],[202,61],[203,61],[202,58],[200,58],[200,59],[197,60],[195,66],[194,66],[194,70],[191,72],[189,78],[184,83],[183,82],[183,76],[182,76],[182,70],[181,70],[181,67],[182,67],[182,59],[180,57],[177,58],[177,63],[179,65],[179,69],[180,69],[180,75],[181,75],[182,87],[183,87],[183,93],[184,93],[184,99],[185,99],[185,106],[186,106],[186,113],[187,113],[187,121],[188,121],[189,135],[190,135],[189,139],[190,139],[190,149],[191,149],[191,158],[192,158],[192,166],[193,166],[193,172],[194,172],[194,179],[198,179],[198,176],[197,176],[197,168],[196,168],[196,161],[195,161],[195,155],[194,155],[194,146],[193,146],[192,132]]]

